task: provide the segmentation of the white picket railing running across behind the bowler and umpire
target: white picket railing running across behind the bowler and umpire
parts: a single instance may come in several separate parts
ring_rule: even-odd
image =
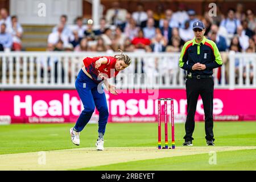
[[[85,57],[113,56],[118,53],[0,53],[0,88],[73,89]],[[185,88],[185,72],[178,66],[179,53],[126,54],[131,57],[132,64],[118,74],[115,79],[117,89]],[[215,88],[256,88],[256,54],[230,52],[228,58],[221,67],[220,80],[217,69],[214,69]]]

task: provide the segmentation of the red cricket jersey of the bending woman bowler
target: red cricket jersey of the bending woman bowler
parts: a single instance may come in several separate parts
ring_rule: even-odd
[[[96,69],[95,62],[100,59],[101,57],[106,57],[108,62],[106,64],[101,64],[101,66]],[[117,59],[112,56],[100,56],[100,57],[85,57],[82,60],[85,65],[86,71],[92,76],[93,80],[96,82],[101,82],[104,78],[111,78],[117,76],[119,71],[115,70],[115,63]]]

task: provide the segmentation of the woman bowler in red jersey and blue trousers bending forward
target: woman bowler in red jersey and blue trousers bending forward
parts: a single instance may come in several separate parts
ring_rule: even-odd
[[[121,50],[119,50],[121,51]],[[104,133],[108,122],[109,111],[106,102],[104,87],[114,95],[117,95],[114,85],[110,85],[107,78],[115,77],[131,64],[131,59],[127,55],[86,57],[84,67],[80,70],[75,86],[79,97],[84,105],[84,110],[77,119],[76,125],[70,129],[73,144],[79,146],[79,134],[89,122],[94,112],[95,106],[99,112],[98,119],[98,139],[96,142],[97,150],[104,150]]]

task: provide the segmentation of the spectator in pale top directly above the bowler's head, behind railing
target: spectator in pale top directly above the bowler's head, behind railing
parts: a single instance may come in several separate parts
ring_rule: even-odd
[[[123,44],[125,44],[126,35],[123,34],[121,27],[115,28],[115,35],[112,43],[112,47],[114,51],[118,51],[118,49],[123,50]]]

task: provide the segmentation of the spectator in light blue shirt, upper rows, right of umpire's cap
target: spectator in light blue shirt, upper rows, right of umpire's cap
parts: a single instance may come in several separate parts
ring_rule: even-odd
[[[240,20],[236,19],[235,11],[233,9],[228,10],[228,17],[221,21],[220,26],[225,27],[228,34],[236,34],[237,27],[240,26]]]

